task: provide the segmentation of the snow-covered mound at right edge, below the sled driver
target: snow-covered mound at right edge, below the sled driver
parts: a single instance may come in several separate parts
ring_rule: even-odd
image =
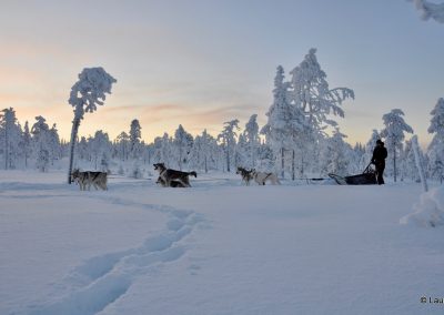
[[[421,195],[418,204],[413,206],[414,213],[403,216],[401,224],[436,227],[444,225],[444,186],[433,189]]]

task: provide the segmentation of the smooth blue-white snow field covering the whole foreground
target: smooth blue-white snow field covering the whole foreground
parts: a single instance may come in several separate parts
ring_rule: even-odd
[[[0,171],[0,314],[444,314],[420,184],[191,184]]]

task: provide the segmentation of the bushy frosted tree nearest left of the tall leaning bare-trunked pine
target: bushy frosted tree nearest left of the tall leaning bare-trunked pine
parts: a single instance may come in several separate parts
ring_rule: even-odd
[[[37,116],[31,133],[37,154],[36,166],[41,172],[46,172],[50,162],[49,125],[47,120],[42,116]]]

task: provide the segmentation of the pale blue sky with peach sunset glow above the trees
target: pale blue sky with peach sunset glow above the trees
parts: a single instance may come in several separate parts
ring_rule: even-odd
[[[244,126],[256,113],[262,126],[276,67],[290,79],[310,48],[330,88],[355,92],[336,119],[350,143],[366,142],[398,108],[424,145],[444,96],[444,26],[422,21],[405,0],[0,3],[0,109],[14,108],[21,124],[42,115],[64,139],[70,89],[91,67],[118,82],[80,134],[114,139],[139,119],[148,142],[180,123],[218,134],[223,122]]]

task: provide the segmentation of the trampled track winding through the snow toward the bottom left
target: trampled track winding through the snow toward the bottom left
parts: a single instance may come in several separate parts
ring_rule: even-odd
[[[140,246],[93,256],[73,268],[61,284],[54,285],[54,289],[62,288],[65,292],[62,296],[59,294],[46,303],[31,304],[18,313],[10,314],[97,314],[124,295],[138,277],[155,273],[159,268],[180,260],[189,250],[183,240],[204,221],[201,214],[192,211],[110,197],[103,193],[83,194],[82,197],[161,212],[167,214],[169,220],[162,231],[145,238]]]

